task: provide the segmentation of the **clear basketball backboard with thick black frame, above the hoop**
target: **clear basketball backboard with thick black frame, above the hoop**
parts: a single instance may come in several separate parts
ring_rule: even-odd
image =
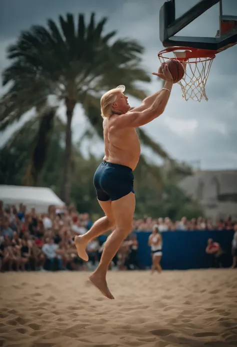
[[[237,0],[166,0],[159,12],[159,37],[164,47],[219,53],[234,46]]]

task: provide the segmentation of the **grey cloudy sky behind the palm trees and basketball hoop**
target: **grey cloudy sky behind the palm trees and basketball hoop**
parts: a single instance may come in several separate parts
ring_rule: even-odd
[[[224,14],[237,16],[237,4],[223,0]],[[157,70],[157,52],[163,47],[159,41],[158,14],[164,0],[0,0],[0,71],[7,66],[6,47],[13,43],[21,30],[33,24],[46,24],[48,18],[57,20],[67,12],[77,15],[96,13],[96,19],[108,17],[105,31],[117,30],[117,37],[139,40],[145,47],[143,65],[148,73]],[[177,15],[198,0],[178,0]],[[180,6],[180,5],[179,5]],[[230,7],[231,11],[230,11]],[[218,29],[218,7],[208,10],[182,31],[186,36],[212,36]],[[205,24],[205,26],[203,25]],[[180,34],[180,33],[179,33]],[[168,105],[158,119],[144,126],[148,134],[178,160],[199,161],[201,169],[237,168],[237,45],[218,54],[212,64],[206,93],[209,100],[200,103],[185,101],[181,90],[174,85]],[[122,84],[122,81],[120,82]],[[160,83],[144,86],[151,94],[160,89]],[[0,89],[0,93],[3,89]],[[131,99],[136,106],[138,101]],[[64,108],[59,113],[63,116]],[[17,125],[16,125],[17,126]],[[73,119],[74,139],[87,126],[83,112],[76,107]],[[0,144],[9,132],[0,134]],[[86,150],[86,148],[84,148]],[[103,145],[93,151],[101,154]],[[150,156],[150,153],[147,153]],[[151,157],[151,156],[150,156]]]

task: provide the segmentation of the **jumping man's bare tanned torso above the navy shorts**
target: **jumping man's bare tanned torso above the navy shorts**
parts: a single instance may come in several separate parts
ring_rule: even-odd
[[[108,163],[128,166],[133,171],[139,161],[140,141],[134,128],[116,129],[112,115],[103,120],[104,158]]]

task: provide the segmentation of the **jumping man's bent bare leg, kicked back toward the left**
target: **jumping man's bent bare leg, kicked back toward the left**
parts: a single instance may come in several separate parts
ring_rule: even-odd
[[[85,261],[88,260],[88,255],[85,251],[87,243],[93,238],[103,234],[105,231],[112,228],[115,224],[111,201],[98,200],[98,203],[105,213],[105,216],[96,220],[96,222],[94,222],[91,228],[84,235],[75,236],[74,238],[78,256]]]

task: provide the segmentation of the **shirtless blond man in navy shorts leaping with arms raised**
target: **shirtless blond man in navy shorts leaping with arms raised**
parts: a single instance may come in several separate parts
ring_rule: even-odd
[[[140,156],[140,142],[135,128],[163,113],[173,85],[167,65],[161,74],[153,75],[165,81],[164,87],[144,99],[139,107],[130,108],[123,94],[124,86],[108,91],[100,100],[105,156],[94,174],[94,187],[105,216],[98,219],[87,233],[75,236],[74,242],[78,256],[87,261],[87,243],[115,226],[106,240],[97,269],[89,276],[89,280],[109,299],[114,297],[106,283],[107,267],[132,230],[135,209],[132,171]]]

